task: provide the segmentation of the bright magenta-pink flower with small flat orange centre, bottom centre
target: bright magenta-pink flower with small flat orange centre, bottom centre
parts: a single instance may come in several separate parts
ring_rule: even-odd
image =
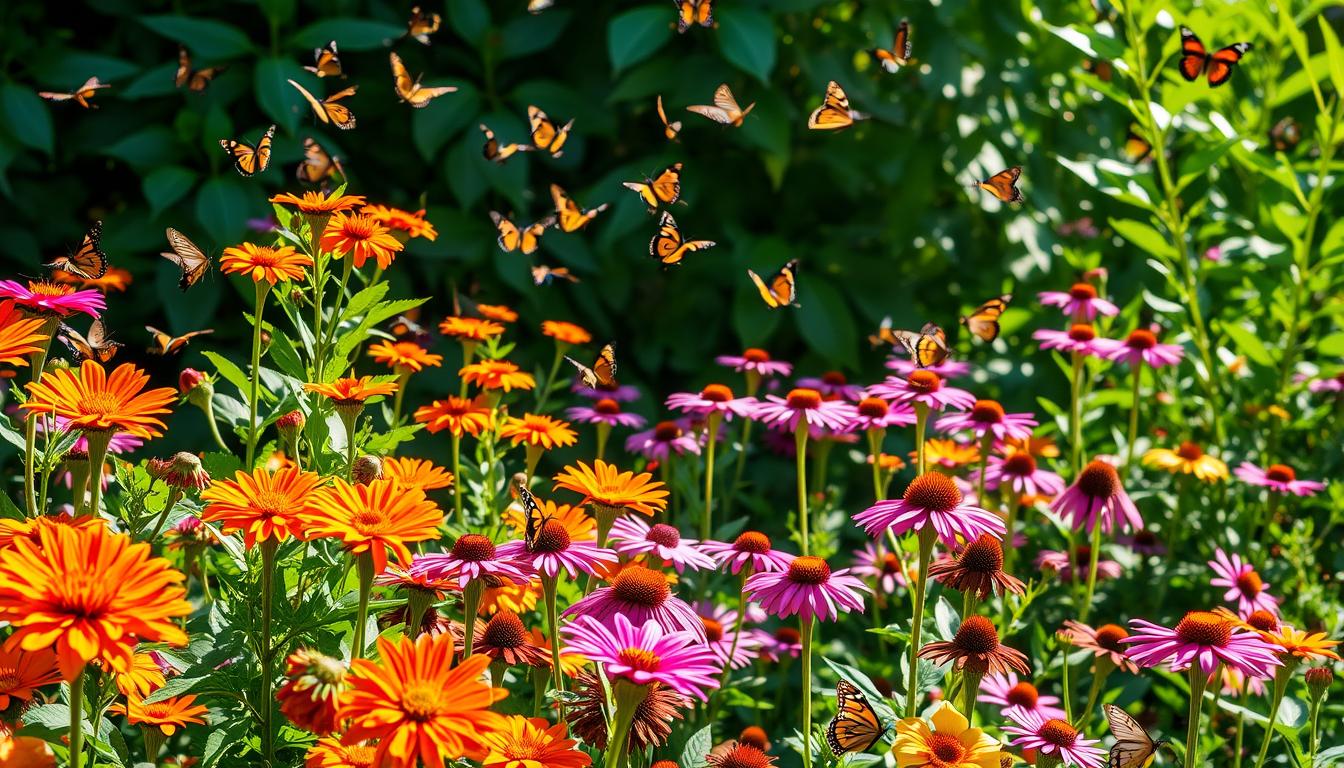
[[[607,679],[661,683],[700,701],[708,701],[706,690],[719,687],[719,670],[704,647],[703,631],[669,631],[657,621],[636,623],[622,615],[606,623],[579,616],[560,631],[567,636],[566,652],[601,664]]]

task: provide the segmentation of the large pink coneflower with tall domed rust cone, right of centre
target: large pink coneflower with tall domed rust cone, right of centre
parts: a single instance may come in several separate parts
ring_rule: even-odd
[[[853,522],[871,537],[887,529],[902,535],[933,526],[938,538],[949,546],[957,542],[957,537],[972,541],[980,534],[1003,538],[1008,533],[999,515],[965,503],[957,484],[942,472],[925,472],[910,482],[902,498],[878,502],[856,514]]]

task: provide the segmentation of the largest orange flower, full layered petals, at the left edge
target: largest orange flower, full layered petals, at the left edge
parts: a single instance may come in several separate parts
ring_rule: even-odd
[[[75,679],[97,659],[130,671],[137,642],[187,644],[173,619],[191,613],[185,577],[148,543],[105,527],[52,526],[40,543],[15,539],[0,551],[0,620],[7,648],[54,648],[60,675]]]

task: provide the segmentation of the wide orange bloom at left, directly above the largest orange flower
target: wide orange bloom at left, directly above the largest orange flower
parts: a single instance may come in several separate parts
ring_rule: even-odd
[[[99,363],[85,360],[78,373],[44,371],[28,385],[28,402],[19,408],[69,418],[70,429],[126,432],[149,440],[163,434],[164,422],[156,417],[169,412],[165,406],[177,399],[177,390],[145,391],[146,383],[149,377],[130,363],[117,366],[109,377]]]

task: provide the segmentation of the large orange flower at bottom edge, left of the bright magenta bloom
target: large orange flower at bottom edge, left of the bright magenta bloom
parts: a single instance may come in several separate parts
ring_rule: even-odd
[[[421,635],[378,639],[382,663],[355,659],[341,697],[340,718],[351,720],[344,744],[376,738],[374,764],[383,768],[442,765],[480,759],[482,738],[504,728],[491,705],[507,691],[480,682],[491,658],[477,654],[453,666],[453,638]]]

